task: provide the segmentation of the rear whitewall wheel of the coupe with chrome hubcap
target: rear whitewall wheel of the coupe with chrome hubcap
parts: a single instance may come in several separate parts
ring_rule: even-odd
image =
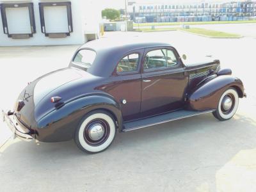
[[[84,116],[77,127],[75,141],[77,147],[89,154],[106,150],[116,136],[115,120],[106,111],[97,110]]]

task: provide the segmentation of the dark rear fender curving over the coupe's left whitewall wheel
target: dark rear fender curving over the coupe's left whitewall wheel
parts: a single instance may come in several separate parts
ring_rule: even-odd
[[[36,139],[45,142],[68,141],[74,138],[76,128],[84,115],[95,109],[111,113],[122,129],[122,113],[118,103],[109,95],[86,95],[56,106],[51,113],[38,120]]]

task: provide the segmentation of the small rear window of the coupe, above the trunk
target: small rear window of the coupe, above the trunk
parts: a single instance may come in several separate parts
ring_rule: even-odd
[[[90,49],[81,49],[77,52],[73,62],[81,67],[90,68],[95,60],[96,52]]]

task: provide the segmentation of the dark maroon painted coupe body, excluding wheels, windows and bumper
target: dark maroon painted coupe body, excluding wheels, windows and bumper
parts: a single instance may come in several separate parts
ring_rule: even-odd
[[[175,52],[177,67],[143,71],[145,54],[160,48]],[[173,119],[212,112],[228,87],[236,89],[239,97],[244,97],[241,80],[231,76],[230,70],[221,70],[219,60],[184,65],[179,53],[170,44],[102,47],[96,41],[83,45],[77,52],[81,49],[97,53],[92,67],[86,69],[77,65],[73,58],[67,68],[30,83],[17,99],[13,115],[23,131],[36,140],[72,140],[83,116],[94,109],[111,113],[118,130],[125,132],[154,125],[157,116],[161,118],[173,112]],[[140,56],[138,70],[122,74],[116,72],[118,61],[134,52]],[[51,98],[56,96],[61,100],[52,103]],[[124,99],[127,100],[125,104],[122,102]],[[150,122],[148,117],[152,116],[156,116],[156,122]]]

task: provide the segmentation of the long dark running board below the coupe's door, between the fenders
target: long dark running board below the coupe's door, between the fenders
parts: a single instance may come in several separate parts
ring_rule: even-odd
[[[205,113],[212,113],[215,110],[209,111],[188,111],[188,110],[179,110],[173,111],[170,113],[164,113],[163,115],[151,116],[148,118],[143,118],[140,120],[134,120],[132,122],[124,123],[124,129],[122,132],[132,131],[135,129],[141,129],[144,127],[149,127],[157,124],[164,124],[166,122],[172,122],[174,120],[179,120],[181,118],[186,118],[189,116],[202,115]]]

